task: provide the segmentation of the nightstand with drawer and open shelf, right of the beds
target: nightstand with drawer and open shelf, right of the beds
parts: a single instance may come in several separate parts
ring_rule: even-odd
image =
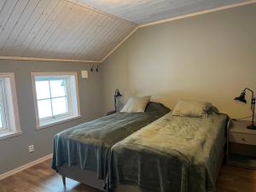
[[[247,129],[250,124],[250,121],[232,121],[228,131],[229,165],[256,169],[256,131]]]

